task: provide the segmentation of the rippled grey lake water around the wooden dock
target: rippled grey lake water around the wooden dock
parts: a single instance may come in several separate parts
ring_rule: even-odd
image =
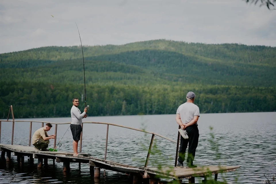
[[[271,177],[276,174],[276,112],[268,113],[217,113],[201,114],[198,120],[200,138],[194,164],[197,165],[239,165],[240,169],[228,172],[223,176],[227,183],[262,183],[264,174]],[[16,119],[19,120],[19,119]],[[71,118],[35,118],[22,120],[39,120],[47,122],[70,122]],[[136,116],[106,116],[87,117],[85,122],[108,122],[133,128],[145,128],[177,141],[178,125],[175,115],[136,115]],[[210,126],[213,130],[210,130]],[[41,123],[32,124],[32,134],[41,127]],[[57,142],[68,129],[69,124],[58,125]],[[1,144],[11,144],[11,122],[2,122]],[[16,122],[14,128],[14,144],[28,145],[30,123]],[[54,126],[48,134],[54,134]],[[218,143],[218,152],[210,143],[213,133],[214,141]],[[84,124],[82,152],[91,153],[96,158],[104,158],[106,125]],[[143,166],[147,157],[147,148],[151,134],[109,126],[107,160],[122,164]],[[151,155],[148,166],[157,164],[174,166],[176,144],[155,136],[154,142],[162,155]],[[72,134],[70,128],[61,141],[59,151],[72,151]],[[146,148],[144,148],[146,146]],[[53,139],[49,147],[53,147]],[[219,154],[218,154],[219,153]],[[217,157],[220,155],[220,157]],[[0,183],[129,183],[130,177],[109,170],[101,170],[99,180],[89,174],[88,164],[71,163],[70,175],[62,174],[62,163],[37,170],[36,164],[28,166],[27,158],[23,167],[16,163],[0,164]],[[37,163],[37,159],[35,159]],[[13,165],[14,164],[14,165]],[[238,182],[235,179],[238,178]],[[218,174],[222,181],[222,175]],[[187,182],[183,179],[183,182]],[[196,179],[196,183],[200,180]]]

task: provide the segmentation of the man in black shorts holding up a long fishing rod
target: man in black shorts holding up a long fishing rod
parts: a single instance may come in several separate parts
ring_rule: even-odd
[[[78,156],[78,141],[81,139],[82,127],[81,124],[83,122],[83,118],[87,117],[87,108],[84,108],[84,112],[81,113],[80,109],[78,109],[78,98],[73,98],[73,106],[71,108],[71,124],[70,129],[73,135],[73,156]]]

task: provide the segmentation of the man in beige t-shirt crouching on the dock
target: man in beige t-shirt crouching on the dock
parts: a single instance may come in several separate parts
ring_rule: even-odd
[[[32,145],[39,151],[49,151],[49,139],[55,139],[55,135],[48,135],[47,132],[52,128],[51,123],[47,123],[44,127],[39,128],[32,136]]]

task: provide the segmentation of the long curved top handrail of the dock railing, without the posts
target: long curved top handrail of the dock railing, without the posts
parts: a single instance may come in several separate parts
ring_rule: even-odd
[[[32,121],[32,120],[0,120],[1,122],[36,122],[36,123],[51,123],[51,124],[55,124],[55,125],[62,125],[62,124],[71,124],[71,122],[66,122],[66,123],[53,123],[53,122],[44,122],[44,121]],[[148,134],[154,134],[156,136],[159,136],[163,139],[166,139],[168,141],[171,141],[173,143],[177,143],[177,141],[174,141],[168,137],[162,136],[160,134],[154,133],[154,132],[149,132],[146,130],[141,130],[138,128],[132,128],[132,127],[128,127],[128,126],[123,126],[123,125],[118,125],[118,124],[113,124],[113,123],[106,123],[106,122],[83,122],[83,124],[105,124],[105,125],[112,125],[112,126],[118,126],[118,127],[122,127],[122,128],[128,128],[131,130],[136,130],[136,131],[140,131],[140,132],[145,132]]]

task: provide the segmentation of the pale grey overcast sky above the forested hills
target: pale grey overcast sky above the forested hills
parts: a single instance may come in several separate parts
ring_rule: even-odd
[[[52,17],[52,16],[53,17]],[[0,53],[152,39],[276,46],[276,10],[243,0],[1,0]]]

